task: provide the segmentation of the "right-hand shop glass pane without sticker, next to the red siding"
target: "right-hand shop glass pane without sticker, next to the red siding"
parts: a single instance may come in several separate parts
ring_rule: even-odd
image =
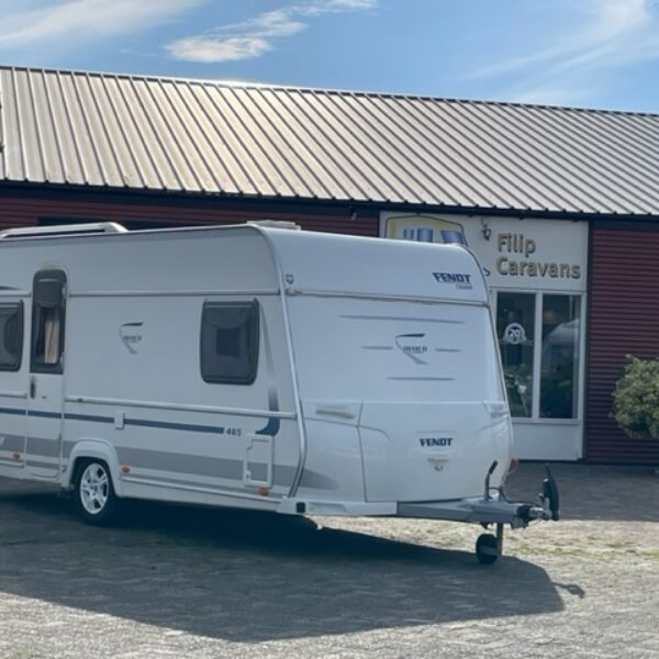
[[[581,298],[543,295],[540,416],[577,418]]]

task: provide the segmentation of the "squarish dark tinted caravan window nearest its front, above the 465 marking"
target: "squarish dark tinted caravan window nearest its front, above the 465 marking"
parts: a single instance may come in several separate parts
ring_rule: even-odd
[[[201,377],[252,384],[258,361],[258,302],[206,302],[201,314]]]

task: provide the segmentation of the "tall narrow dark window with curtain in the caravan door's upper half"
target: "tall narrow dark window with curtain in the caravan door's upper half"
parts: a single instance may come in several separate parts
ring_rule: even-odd
[[[66,275],[43,270],[34,276],[30,370],[62,373]]]

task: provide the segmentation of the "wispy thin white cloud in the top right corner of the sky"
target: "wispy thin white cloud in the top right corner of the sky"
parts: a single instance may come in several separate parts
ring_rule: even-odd
[[[560,34],[534,35],[550,45],[488,64],[469,77],[509,80],[504,96],[518,101],[588,102],[627,67],[659,58],[656,5],[655,0],[562,0],[555,5],[563,12],[563,25],[555,27]]]

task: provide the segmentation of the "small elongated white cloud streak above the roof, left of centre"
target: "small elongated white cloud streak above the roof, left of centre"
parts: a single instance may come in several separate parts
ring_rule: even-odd
[[[289,4],[241,23],[221,25],[206,34],[172,41],[166,49],[175,59],[186,62],[253,59],[272,51],[278,40],[306,30],[309,19],[373,9],[377,3],[378,0],[312,0]]]

